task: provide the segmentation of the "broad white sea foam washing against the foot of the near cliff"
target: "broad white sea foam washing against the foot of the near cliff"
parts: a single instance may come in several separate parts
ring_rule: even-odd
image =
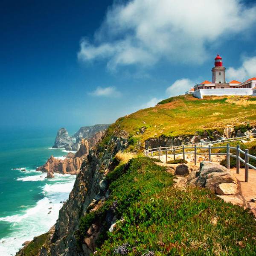
[[[43,175],[46,174],[22,177],[22,181],[36,179]],[[12,223],[12,232],[8,237],[0,239],[1,256],[14,256],[24,241],[32,240],[34,236],[45,233],[52,227],[62,206],[60,202],[67,200],[75,178],[75,175],[56,174],[53,179],[45,179],[47,183],[42,188],[45,197],[38,201],[35,207],[20,210],[19,214],[0,218],[0,221]]]

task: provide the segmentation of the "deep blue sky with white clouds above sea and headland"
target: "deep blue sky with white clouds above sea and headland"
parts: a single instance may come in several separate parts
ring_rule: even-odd
[[[2,127],[77,127],[210,80],[256,76],[256,3],[1,1]]]

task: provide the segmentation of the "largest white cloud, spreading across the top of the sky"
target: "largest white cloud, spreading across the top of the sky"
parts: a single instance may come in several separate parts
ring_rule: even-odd
[[[253,28],[256,6],[241,0],[130,0],[114,3],[92,42],[83,39],[78,58],[150,66],[161,58],[202,63],[207,44]]]

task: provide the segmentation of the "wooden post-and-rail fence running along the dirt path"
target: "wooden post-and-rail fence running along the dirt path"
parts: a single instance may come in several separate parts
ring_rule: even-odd
[[[251,136],[256,137],[256,133],[251,134]],[[172,146],[172,147],[159,147],[159,148],[148,148],[147,150],[144,151],[144,155],[147,157],[153,158],[155,157],[161,157],[163,155],[163,152],[166,156],[166,162],[168,161],[168,156],[172,155],[173,159],[175,160],[175,157],[177,155],[182,154],[183,155],[183,160],[185,160],[185,154],[194,154],[195,158],[195,165],[197,164],[197,156],[201,154],[208,154],[208,160],[211,161],[211,156],[212,155],[226,155],[227,157],[227,169],[230,169],[230,157],[236,158],[236,173],[239,174],[240,170],[240,163],[244,163],[245,166],[245,177],[244,181],[248,182],[249,180],[249,167],[256,170],[256,166],[253,166],[249,163],[249,159],[254,159],[256,160],[256,156],[253,156],[249,154],[249,150],[245,149],[245,151],[241,150],[240,145],[237,145],[236,147],[230,147],[230,144],[227,143],[226,146],[219,146],[219,147],[212,147],[212,144],[219,144],[219,143],[226,143],[226,142],[233,142],[237,140],[244,140],[248,139],[250,136],[247,133],[246,136],[243,137],[235,137],[235,138],[230,138],[226,140],[216,140],[216,141],[211,141],[207,143],[197,143],[197,144],[189,144],[189,145],[180,145],[180,146]],[[205,147],[204,145],[207,145],[208,147]],[[225,153],[212,153],[212,149],[220,149],[220,148],[225,148],[226,152]],[[186,151],[186,149],[189,149],[189,151]],[[192,149],[192,151],[191,151]],[[208,150],[208,153],[202,153],[198,152],[200,149],[206,149]],[[233,155],[230,153],[230,149],[236,150],[236,155]],[[155,154],[157,153],[157,154]],[[244,159],[241,157],[241,155],[244,156]]]

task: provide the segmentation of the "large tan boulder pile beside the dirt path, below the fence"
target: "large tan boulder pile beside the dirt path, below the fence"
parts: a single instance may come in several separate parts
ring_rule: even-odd
[[[202,161],[200,170],[190,176],[189,184],[210,189],[217,195],[235,195],[238,192],[236,177],[218,163]]]

